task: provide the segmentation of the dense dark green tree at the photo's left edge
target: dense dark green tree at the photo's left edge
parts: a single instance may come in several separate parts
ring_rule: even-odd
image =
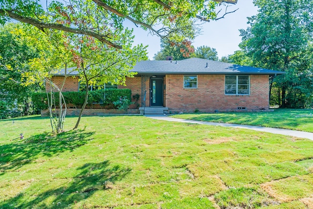
[[[31,93],[42,91],[38,85],[21,85],[21,73],[27,70],[24,65],[38,57],[38,50],[21,38],[21,32],[22,24],[10,23],[0,27],[0,100],[5,101],[11,116],[32,114]]]

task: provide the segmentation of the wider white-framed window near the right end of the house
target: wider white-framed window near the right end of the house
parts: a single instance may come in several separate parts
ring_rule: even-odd
[[[250,94],[249,75],[225,75],[225,94]]]

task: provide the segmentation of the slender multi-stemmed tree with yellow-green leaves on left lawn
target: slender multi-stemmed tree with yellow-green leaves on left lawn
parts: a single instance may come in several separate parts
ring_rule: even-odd
[[[52,29],[46,30],[45,33],[42,31],[38,33],[36,28],[26,25],[23,30],[23,38],[39,50],[39,56],[29,60],[29,70],[22,72],[23,85],[39,84],[45,87],[52,132],[63,132],[67,104],[62,90],[70,74],[67,68],[74,65],[72,54],[65,45],[68,40],[67,33]],[[58,86],[52,82],[51,77],[61,69],[64,78]]]

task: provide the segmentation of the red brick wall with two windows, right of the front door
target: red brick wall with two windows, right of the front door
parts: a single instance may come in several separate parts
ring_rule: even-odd
[[[183,88],[183,75],[166,75],[165,106],[173,110],[268,109],[268,75],[250,75],[250,95],[225,95],[225,75],[198,75],[197,89]]]

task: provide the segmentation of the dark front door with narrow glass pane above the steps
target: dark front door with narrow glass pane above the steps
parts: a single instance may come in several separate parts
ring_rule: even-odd
[[[151,78],[150,106],[163,107],[163,78]]]

